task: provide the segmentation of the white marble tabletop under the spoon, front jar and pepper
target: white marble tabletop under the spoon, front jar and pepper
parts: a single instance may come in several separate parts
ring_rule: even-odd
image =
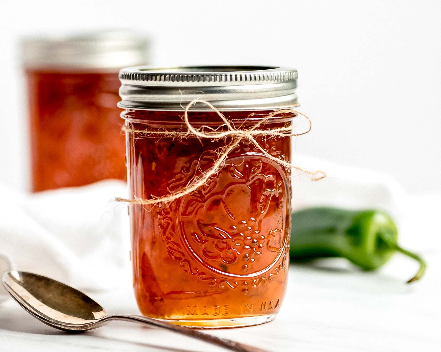
[[[426,277],[404,284],[416,266],[396,255],[377,272],[362,272],[344,260],[290,268],[281,312],[260,326],[210,330],[274,352],[439,351],[441,260],[427,251]],[[118,292],[90,293],[109,313],[138,310],[130,285]],[[0,306],[0,351],[221,352],[167,331],[113,322],[83,334],[66,334],[34,319],[9,300]]]

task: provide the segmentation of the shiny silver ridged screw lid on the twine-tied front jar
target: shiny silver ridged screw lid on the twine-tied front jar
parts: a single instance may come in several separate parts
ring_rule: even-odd
[[[120,70],[121,108],[182,111],[201,98],[219,110],[298,106],[297,70],[274,66],[128,67]],[[211,110],[197,103],[191,110]]]

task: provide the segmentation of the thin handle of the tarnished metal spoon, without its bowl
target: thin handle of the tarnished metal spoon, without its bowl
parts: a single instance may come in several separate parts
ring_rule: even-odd
[[[168,323],[140,315],[117,314],[117,315],[110,315],[106,317],[105,320],[123,320],[123,321],[138,323],[141,325],[147,325],[147,326],[153,325],[153,326],[161,327],[163,329],[172,330],[179,334],[194,337],[199,340],[212,343],[214,345],[219,345],[231,351],[236,351],[236,352],[269,352],[268,350],[244,345],[239,342],[228,340],[226,338],[221,338],[210,334],[206,334],[196,329],[188,328],[185,326],[179,326],[172,323]]]

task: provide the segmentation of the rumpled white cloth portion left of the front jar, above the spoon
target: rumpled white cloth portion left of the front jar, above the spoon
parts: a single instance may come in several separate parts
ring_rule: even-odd
[[[79,289],[116,286],[129,267],[123,181],[21,194],[0,185],[0,275],[12,267]],[[130,273],[129,273],[130,275]],[[7,297],[0,285],[0,301]]]

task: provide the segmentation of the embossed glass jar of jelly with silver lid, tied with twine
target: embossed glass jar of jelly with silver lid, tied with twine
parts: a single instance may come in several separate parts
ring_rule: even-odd
[[[297,71],[276,67],[181,67],[120,71],[125,111],[131,260],[142,314],[192,327],[265,323],[284,298],[291,227],[290,171],[248,140],[228,153],[223,168],[195,191],[164,197],[197,180],[232,138],[159,136],[186,131],[183,107],[194,98],[213,104],[236,129],[274,110],[297,106]],[[287,127],[292,112],[257,129]],[[194,128],[226,131],[200,102],[189,109]],[[208,126],[208,127],[207,127]],[[145,133],[148,131],[148,133]],[[290,138],[254,136],[270,155],[290,160]]]

